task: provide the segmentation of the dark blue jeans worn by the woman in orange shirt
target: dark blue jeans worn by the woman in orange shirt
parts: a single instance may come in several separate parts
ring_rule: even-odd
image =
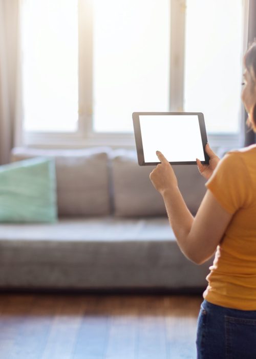
[[[197,359],[256,359],[256,310],[201,304]]]

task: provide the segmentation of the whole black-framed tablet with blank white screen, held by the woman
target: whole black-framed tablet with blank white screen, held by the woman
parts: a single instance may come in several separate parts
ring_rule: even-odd
[[[134,112],[133,125],[140,166],[159,164],[156,151],[171,165],[209,163],[203,113]]]

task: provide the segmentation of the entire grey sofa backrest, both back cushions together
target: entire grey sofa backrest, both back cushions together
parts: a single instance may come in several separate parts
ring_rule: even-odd
[[[59,216],[166,216],[162,196],[149,177],[155,166],[139,166],[135,150],[12,150],[12,161],[35,156],[55,157]],[[206,180],[196,165],[173,169],[184,201],[195,215],[206,191]]]

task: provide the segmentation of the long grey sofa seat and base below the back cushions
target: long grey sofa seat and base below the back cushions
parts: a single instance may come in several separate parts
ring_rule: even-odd
[[[0,287],[206,287],[181,253],[167,218],[61,218],[52,225],[0,225]]]

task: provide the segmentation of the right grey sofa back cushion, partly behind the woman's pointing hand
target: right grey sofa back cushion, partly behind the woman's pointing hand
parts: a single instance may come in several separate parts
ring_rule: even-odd
[[[150,173],[156,166],[139,166],[135,150],[112,152],[114,208],[116,216],[166,215],[164,202]],[[206,180],[196,165],[175,165],[174,172],[184,201],[195,215],[206,192]]]

